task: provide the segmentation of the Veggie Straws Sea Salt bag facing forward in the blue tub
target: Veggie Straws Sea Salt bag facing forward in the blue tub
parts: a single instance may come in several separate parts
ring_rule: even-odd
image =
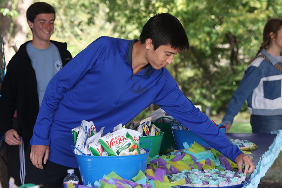
[[[123,128],[99,139],[103,148],[107,151],[108,156],[140,154],[138,144],[134,142],[127,130],[130,129]],[[141,133],[136,131],[135,133],[139,136],[141,135]]]

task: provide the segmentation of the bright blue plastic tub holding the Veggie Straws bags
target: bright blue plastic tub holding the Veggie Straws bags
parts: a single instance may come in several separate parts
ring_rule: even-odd
[[[73,151],[77,149],[74,146],[71,147]],[[147,153],[127,156],[86,156],[82,153],[82,155],[75,154],[83,185],[88,185],[89,183],[93,185],[95,181],[103,178],[103,175],[108,175],[112,171],[127,180],[132,180],[139,170],[145,173],[150,150],[144,150]]]

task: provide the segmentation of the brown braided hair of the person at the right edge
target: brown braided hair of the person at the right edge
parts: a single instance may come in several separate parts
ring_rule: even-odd
[[[275,33],[275,35],[277,36],[277,31],[280,30],[282,26],[282,19],[281,18],[270,18],[267,23],[264,26],[264,33],[263,33],[263,43],[261,43],[261,46],[259,48],[259,51],[257,53],[257,55],[260,53],[260,51],[263,48],[266,48],[269,45],[270,42],[270,32]],[[256,55],[256,56],[257,56]]]

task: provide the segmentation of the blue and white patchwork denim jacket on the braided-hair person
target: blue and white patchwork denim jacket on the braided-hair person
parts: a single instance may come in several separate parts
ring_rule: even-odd
[[[265,49],[259,57],[246,68],[245,75],[238,89],[233,93],[222,121],[233,123],[234,117],[241,110],[246,99],[252,115],[282,115],[281,80],[282,73],[274,65],[278,62]],[[280,52],[280,55],[282,53]]]

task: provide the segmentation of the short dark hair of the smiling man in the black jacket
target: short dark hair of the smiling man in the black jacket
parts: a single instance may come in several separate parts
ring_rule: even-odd
[[[33,3],[32,5],[29,6],[29,8],[26,11],[26,18],[27,20],[31,21],[34,23],[34,19],[38,14],[44,14],[44,13],[53,13],[54,14],[54,19],[56,18],[56,12],[55,9],[48,3],[44,2],[37,2]]]

